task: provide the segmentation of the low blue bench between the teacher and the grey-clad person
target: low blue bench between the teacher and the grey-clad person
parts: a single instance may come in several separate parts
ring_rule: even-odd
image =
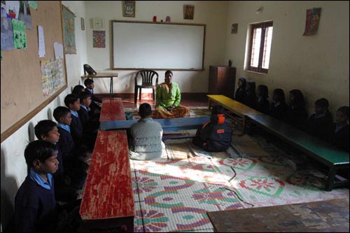
[[[210,120],[209,116],[199,118],[171,118],[171,119],[153,119],[162,125],[163,131],[179,131],[187,129],[200,129],[204,122]],[[112,120],[100,123],[101,130],[109,129],[129,129],[132,124],[138,120]]]

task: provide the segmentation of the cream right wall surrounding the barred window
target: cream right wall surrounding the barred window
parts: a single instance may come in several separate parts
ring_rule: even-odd
[[[263,6],[262,13],[256,10]],[[302,36],[306,10],[321,7],[321,20],[314,36]],[[349,106],[349,1],[230,1],[228,6],[225,59],[237,67],[237,78],[255,80],[272,91],[282,88],[288,98],[293,89],[302,90],[309,113],[314,101],[330,101],[335,115],[339,106]],[[244,71],[248,24],[273,20],[269,73]],[[231,34],[231,24],[238,33]],[[237,84],[236,84],[237,87]]]

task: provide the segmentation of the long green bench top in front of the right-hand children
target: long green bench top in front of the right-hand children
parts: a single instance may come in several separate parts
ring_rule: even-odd
[[[269,132],[274,133],[282,139],[288,140],[294,146],[312,155],[321,162],[332,165],[349,164],[349,153],[333,148],[325,141],[302,132],[300,129],[276,120],[269,115],[249,115],[248,118],[265,127]],[[323,160],[323,161],[322,161]]]

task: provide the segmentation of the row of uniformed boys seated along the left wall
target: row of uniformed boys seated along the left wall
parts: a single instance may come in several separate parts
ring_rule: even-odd
[[[83,132],[91,133],[97,125],[91,127],[87,114],[89,92],[68,94],[64,103],[66,107],[59,106],[53,112],[57,124],[52,120],[38,122],[34,127],[38,141],[29,143],[25,150],[29,171],[15,197],[13,226],[17,232],[72,232],[80,223],[77,190],[83,188],[88,167],[80,160],[82,145],[85,140],[94,144],[93,136],[84,137]],[[59,206],[56,201],[66,205]]]

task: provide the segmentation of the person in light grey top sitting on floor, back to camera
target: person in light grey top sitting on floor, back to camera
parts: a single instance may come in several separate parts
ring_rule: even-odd
[[[130,127],[130,159],[152,160],[162,155],[165,144],[162,142],[163,129],[160,123],[151,118],[151,105],[139,107],[141,119]]]

